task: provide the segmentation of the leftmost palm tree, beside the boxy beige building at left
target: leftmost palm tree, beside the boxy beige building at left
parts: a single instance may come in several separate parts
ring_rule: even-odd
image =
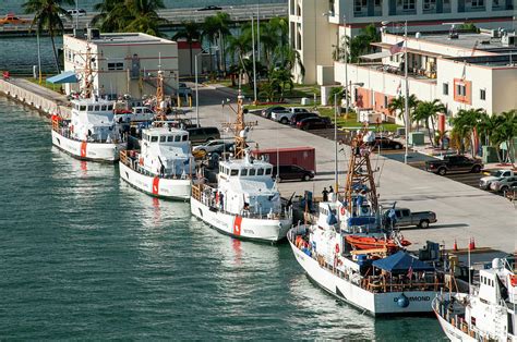
[[[64,10],[61,5],[73,3],[74,0],[28,0],[23,4],[25,13],[34,13],[34,19],[31,23],[31,29],[36,26],[36,32],[38,35],[43,30],[48,32],[50,40],[52,41],[53,57],[56,58],[56,69],[58,73],[60,72],[60,68],[55,37],[64,29],[61,16],[67,16],[69,20],[72,19],[67,10]]]

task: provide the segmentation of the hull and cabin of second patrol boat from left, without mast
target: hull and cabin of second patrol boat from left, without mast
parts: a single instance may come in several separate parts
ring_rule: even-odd
[[[120,178],[156,197],[189,199],[193,156],[189,132],[160,126],[142,131],[141,150],[120,152]]]

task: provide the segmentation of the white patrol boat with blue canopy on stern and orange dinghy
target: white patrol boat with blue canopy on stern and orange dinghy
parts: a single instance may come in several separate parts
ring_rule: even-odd
[[[289,231],[297,261],[328,293],[373,316],[431,314],[432,300],[453,285],[452,277],[398,251],[408,242],[382,230],[370,149],[361,136],[352,141],[345,188],[344,198],[333,194],[320,203],[315,224]]]

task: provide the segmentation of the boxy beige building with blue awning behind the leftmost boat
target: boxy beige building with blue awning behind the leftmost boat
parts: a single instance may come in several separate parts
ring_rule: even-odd
[[[81,77],[91,48],[94,89],[111,98],[129,94],[142,98],[156,91],[156,75],[165,75],[166,95],[178,89],[178,44],[142,33],[63,35],[64,71]],[[79,84],[67,84],[65,91],[77,90]]]

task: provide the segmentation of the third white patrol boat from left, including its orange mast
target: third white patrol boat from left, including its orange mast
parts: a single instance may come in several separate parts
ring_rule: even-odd
[[[281,204],[272,178],[273,166],[245,150],[250,124],[244,123],[238,98],[236,158],[219,162],[217,183],[192,185],[191,212],[221,233],[238,239],[277,242],[292,224],[291,207]]]

